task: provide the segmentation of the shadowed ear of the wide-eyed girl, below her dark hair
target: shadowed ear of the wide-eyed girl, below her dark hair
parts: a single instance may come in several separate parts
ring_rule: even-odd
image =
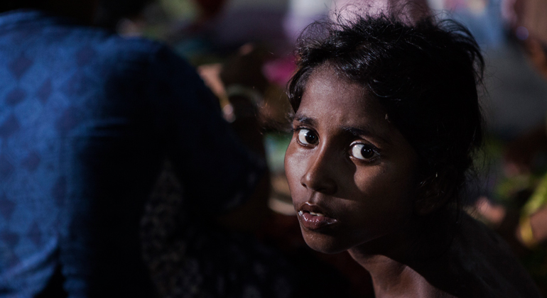
[[[453,195],[453,187],[445,183],[445,177],[437,173],[418,185],[414,212],[419,216],[427,216],[445,206]]]

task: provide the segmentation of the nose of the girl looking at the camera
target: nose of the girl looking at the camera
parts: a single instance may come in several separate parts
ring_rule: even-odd
[[[333,178],[333,175],[335,175],[333,171],[334,162],[335,160],[320,152],[315,157],[308,159],[308,170],[300,178],[300,184],[315,192],[335,194],[337,192],[337,183]]]

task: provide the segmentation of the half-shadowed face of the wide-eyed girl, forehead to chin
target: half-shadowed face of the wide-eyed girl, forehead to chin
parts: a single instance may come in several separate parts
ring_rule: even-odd
[[[404,228],[416,152],[359,85],[327,66],[308,79],[285,169],[308,245],[337,253]]]

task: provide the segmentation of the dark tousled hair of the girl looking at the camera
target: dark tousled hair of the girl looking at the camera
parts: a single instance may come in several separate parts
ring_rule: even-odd
[[[300,35],[296,57],[298,69],[288,83],[293,111],[313,71],[330,65],[377,99],[416,150],[418,197],[460,203],[483,138],[477,84],[484,60],[465,27],[382,13],[320,21]]]

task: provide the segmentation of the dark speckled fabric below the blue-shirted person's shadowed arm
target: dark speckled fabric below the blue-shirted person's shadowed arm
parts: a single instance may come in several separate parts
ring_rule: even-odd
[[[166,165],[142,221],[143,256],[161,297],[295,297],[296,268],[256,238],[205,223],[184,208]]]

